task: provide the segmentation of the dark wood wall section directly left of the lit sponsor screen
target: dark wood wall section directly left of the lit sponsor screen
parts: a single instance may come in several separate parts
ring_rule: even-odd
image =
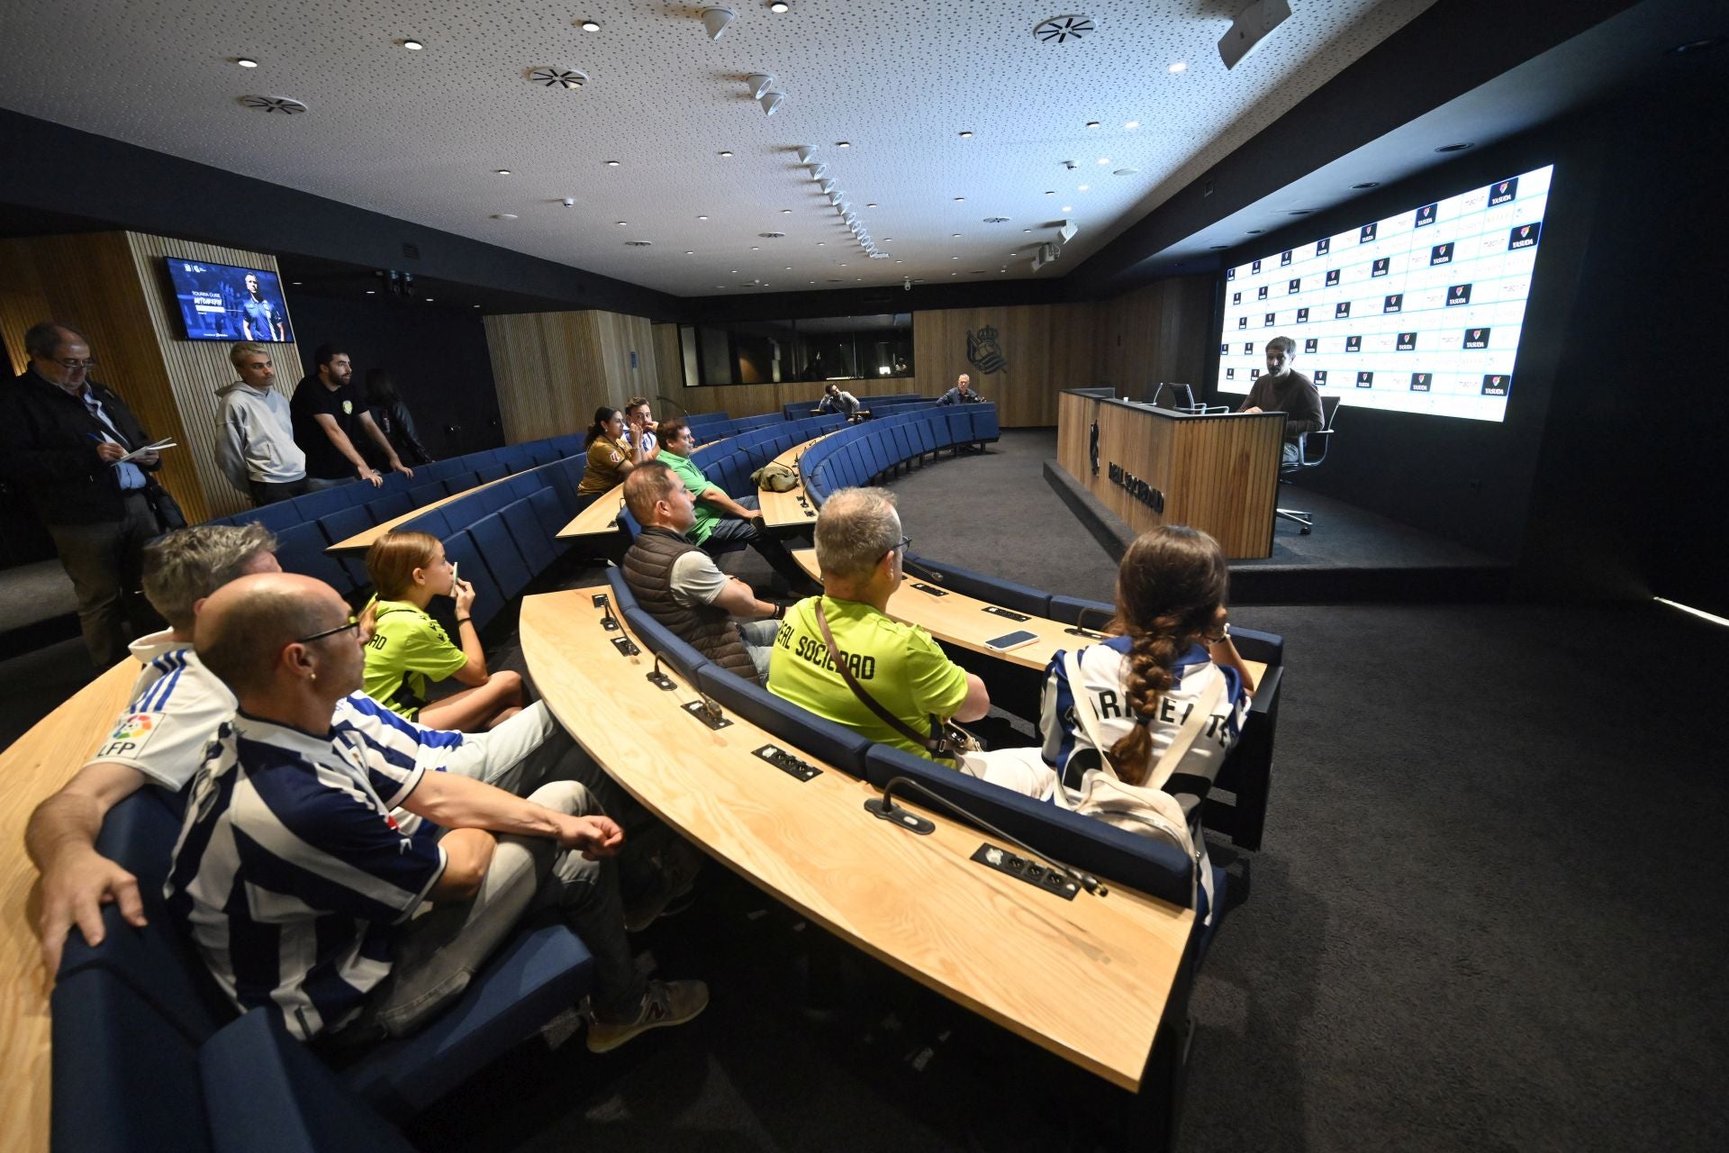
[[[1160,380],[1202,396],[1212,325],[1212,278],[1158,280],[1093,306],[1093,377],[1117,396],[1145,399]],[[1072,385],[1065,385],[1072,387]]]

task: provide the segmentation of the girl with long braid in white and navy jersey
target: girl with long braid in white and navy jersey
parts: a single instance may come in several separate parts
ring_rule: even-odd
[[[1164,785],[1198,802],[1236,742],[1254,691],[1226,627],[1226,577],[1224,553],[1205,532],[1183,526],[1143,532],[1117,570],[1112,636],[1074,653],[1081,683],[1069,674],[1067,653],[1046,667],[1037,755],[1030,748],[970,754],[961,771],[1072,809],[1088,792],[1088,776],[1107,761],[1124,783],[1146,783],[1190,710],[1214,698],[1212,716]],[[1077,709],[1089,709],[1107,748],[1093,745]]]

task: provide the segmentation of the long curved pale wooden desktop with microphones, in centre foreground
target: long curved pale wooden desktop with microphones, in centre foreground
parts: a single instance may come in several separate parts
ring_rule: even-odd
[[[712,857],[802,916],[951,1001],[1138,1089],[1193,911],[1112,887],[1062,901],[968,857],[984,835],[937,812],[930,837],[863,809],[877,795],[828,768],[799,781],[752,755],[769,743],[733,716],[711,731],[695,693],[645,679],[590,596],[522,600],[522,653],[558,721],[626,790]],[[621,724],[619,717],[631,717]],[[647,728],[645,728],[647,726]],[[648,752],[643,731],[657,733]],[[666,755],[654,755],[664,747]],[[1060,975],[1060,977],[1053,977]]]

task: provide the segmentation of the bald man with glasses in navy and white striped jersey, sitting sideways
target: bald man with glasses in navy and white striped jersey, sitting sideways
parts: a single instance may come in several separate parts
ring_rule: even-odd
[[[239,712],[192,781],[164,894],[223,992],[301,1039],[405,1035],[552,908],[595,956],[591,1051],[700,1013],[702,982],[636,973],[609,861],[624,833],[581,783],[524,800],[368,759],[332,728],[361,683],[358,627],[335,589],[285,572],[230,581],[199,612],[199,659]]]

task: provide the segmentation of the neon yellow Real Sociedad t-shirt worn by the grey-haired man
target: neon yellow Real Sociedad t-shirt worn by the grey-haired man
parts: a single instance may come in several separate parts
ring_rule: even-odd
[[[769,652],[768,690],[873,742],[928,757],[922,745],[878,719],[840,679],[816,624],[816,603],[818,598],[809,596],[787,610]],[[859,688],[915,733],[930,731],[930,714],[947,719],[967,700],[967,671],[944,655],[930,633],[856,600],[823,596],[821,603],[835,648],[847,659]]]

